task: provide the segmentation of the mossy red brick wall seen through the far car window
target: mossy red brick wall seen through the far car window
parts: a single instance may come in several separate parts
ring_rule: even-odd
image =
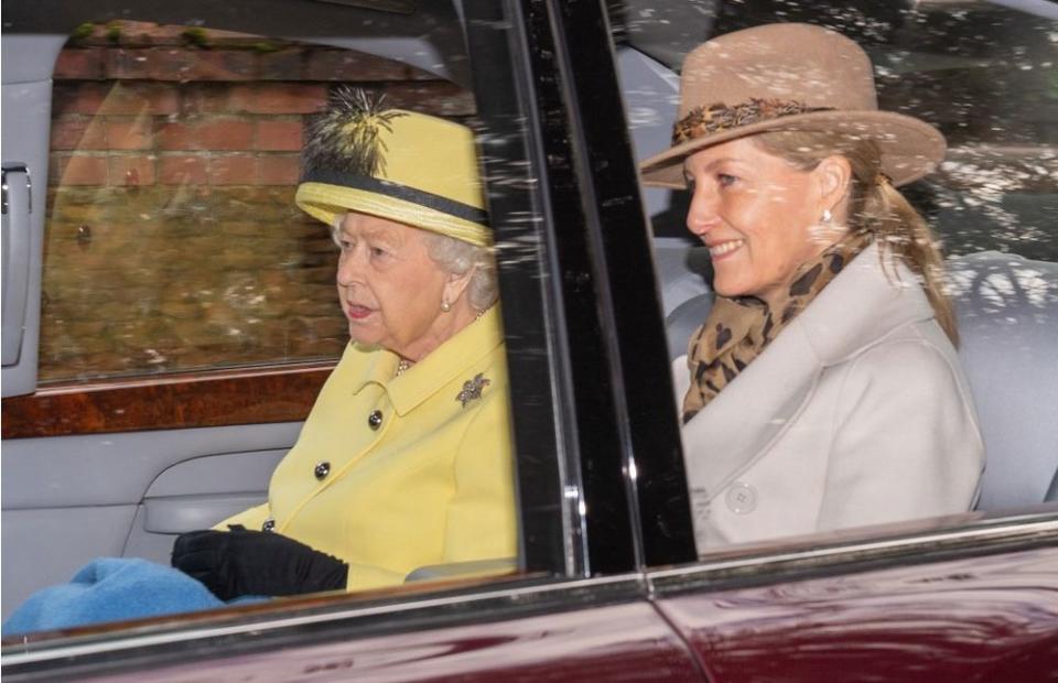
[[[242,34],[85,26],[56,69],[41,375],[137,375],[334,356],[326,229],[293,205],[304,118],[330,88],[463,118],[407,65]]]

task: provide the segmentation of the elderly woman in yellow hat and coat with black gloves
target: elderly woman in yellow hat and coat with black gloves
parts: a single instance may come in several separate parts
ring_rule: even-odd
[[[180,536],[173,566],[229,599],[512,557],[506,358],[473,134],[342,90],[309,130],[296,202],[338,246],[352,342],[268,502]]]

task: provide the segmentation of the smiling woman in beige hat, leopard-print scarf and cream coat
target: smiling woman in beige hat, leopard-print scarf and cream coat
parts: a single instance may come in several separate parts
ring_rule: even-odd
[[[984,456],[936,240],[897,185],[944,140],[807,24],[683,64],[647,184],[691,193],[715,303],[676,365],[700,551],[969,510]]]

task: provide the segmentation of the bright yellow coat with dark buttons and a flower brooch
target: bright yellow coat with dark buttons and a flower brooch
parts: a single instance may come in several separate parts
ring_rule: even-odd
[[[402,583],[424,565],[514,557],[497,306],[393,378],[397,362],[350,344],[272,474],[268,502],[217,528],[272,520],[274,531],[346,562],[349,590]],[[478,373],[481,398],[472,390],[464,405],[461,391]]]

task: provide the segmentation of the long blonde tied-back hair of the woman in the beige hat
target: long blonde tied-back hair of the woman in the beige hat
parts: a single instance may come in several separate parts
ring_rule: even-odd
[[[849,160],[852,169],[849,228],[870,232],[883,256],[895,254],[921,279],[937,322],[958,346],[959,330],[951,300],[944,291],[944,259],[937,238],[882,173],[877,143],[840,132],[816,131],[775,131],[754,135],[752,140],[802,171],[811,171],[823,159],[835,154]]]

